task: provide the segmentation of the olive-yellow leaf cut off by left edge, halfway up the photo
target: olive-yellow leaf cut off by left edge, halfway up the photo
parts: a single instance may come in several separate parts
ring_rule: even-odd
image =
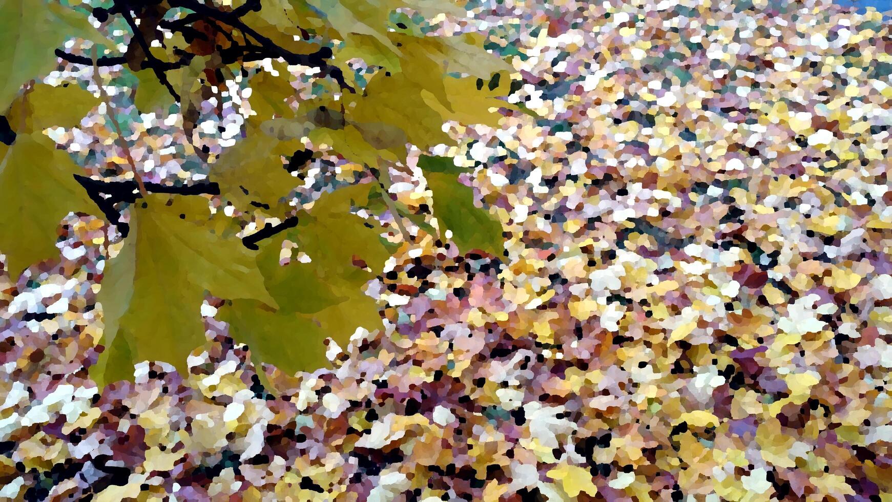
[[[48,137],[22,133],[0,147],[0,252],[18,277],[32,263],[59,256],[56,227],[68,213],[102,213],[72,176],[78,166]]]

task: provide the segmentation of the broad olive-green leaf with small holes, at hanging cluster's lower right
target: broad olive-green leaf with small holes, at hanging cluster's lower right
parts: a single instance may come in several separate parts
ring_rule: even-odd
[[[309,212],[301,212],[296,228],[261,243],[260,269],[279,309],[270,312],[255,301],[234,300],[219,313],[257,361],[290,374],[312,371],[328,364],[327,337],[343,346],[357,327],[381,327],[377,303],[362,287],[380,272],[390,253],[379,239],[382,228],[350,213],[367,198],[367,185],[323,195]],[[280,266],[285,239],[297,243],[297,251],[309,255],[310,263],[293,260]],[[355,259],[364,260],[371,271],[359,268]]]

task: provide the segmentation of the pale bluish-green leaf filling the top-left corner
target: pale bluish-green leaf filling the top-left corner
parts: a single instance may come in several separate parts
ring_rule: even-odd
[[[0,111],[9,108],[23,84],[56,67],[54,51],[70,37],[96,32],[86,16],[40,0],[0,0]]]

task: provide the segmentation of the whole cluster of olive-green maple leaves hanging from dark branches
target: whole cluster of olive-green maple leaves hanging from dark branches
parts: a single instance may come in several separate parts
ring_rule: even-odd
[[[145,359],[184,368],[202,342],[207,299],[219,300],[219,317],[260,360],[289,372],[323,365],[322,339],[343,342],[358,326],[380,325],[362,288],[394,246],[415,238],[407,224],[448,228],[463,249],[501,253],[499,224],[475,207],[449,159],[418,163],[439,230],[390,190],[390,173],[408,171],[409,152],[452,143],[444,123],[495,125],[506,106],[499,98],[510,67],[478,36],[438,34],[438,22],[463,13],[439,0],[114,0],[91,10],[0,0],[0,251],[8,271],[53,259],[54,229],[70,211],[118,229],[124,239],[100,292],[100,382],[129,377]],[[39,83],[52,70],[91,67],[92,82]],[[251,88],[235,144],[193,147],[202,117],[219,116],[233,86]],[[106,87],[133,92],[122,101]],[[207,178],[142,179],[149,169],[128,150],[131,106],[178,115]],[[77,127],[91,111],[114,126],[104,143],[125,154],[112,176],[85,176],[46,135]],[[295,205],[290,195],[320,151],[359,176]],[[282,265],[293,250],[310,259]]]

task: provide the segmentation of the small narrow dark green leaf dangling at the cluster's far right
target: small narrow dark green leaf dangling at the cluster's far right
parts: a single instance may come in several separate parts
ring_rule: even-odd
[[[478,249],[500,257],[504,251],[501,224],[489,211],[476,206],[474,190],[458,183],[455,172],[425,170],[425,179],[434,193],[434,216],[440,220],[441,230],[445,226],[452,231],[458,249]]]

